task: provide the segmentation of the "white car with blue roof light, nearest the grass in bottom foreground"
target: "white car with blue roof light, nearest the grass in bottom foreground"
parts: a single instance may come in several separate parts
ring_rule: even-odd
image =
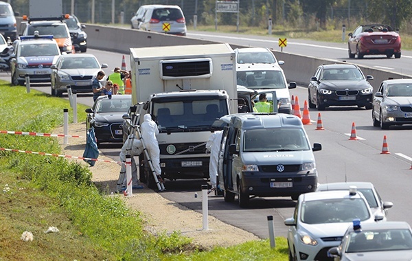
[[[327,252],[337,247],[352,221],[374,223],[383,216],[372,213],[362,193],[356,189],[301,194],[288,230],[289,260],[327,260]]]

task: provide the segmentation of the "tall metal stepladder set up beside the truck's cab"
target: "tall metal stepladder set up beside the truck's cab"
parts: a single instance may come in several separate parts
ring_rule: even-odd
[[[126,142],[126,155],[130,155],[130,151],[132,150],[132,146],[133,146],[133,140],[135,139],[136,133],[137,133],[137,138],[141,141],[141,145],[143,146],[144,156],[146,157],[146,160],[148,161],[150,171],[152,172],[152,175],[155,179],[155,183],[157,185],[157,189],[159,191],[163,191],[165,190],[165,186],[163,185],[163,180],[161,179],[160,176],[159,177],[157,176],[155,172],[155,168],[153,168],[152,159],[150,159],[150,155],[148,153],[148,150],[146,149],[146,145],[144,144],[144,140],[143,140],[143,137],[141,137],[141,133],[139,129],[140,115],[141,115],[142,109],[144,108],[144,105],[145,104],[143,102],[139,102],[135,106],[131,106],[130,115],[129,115],[130,117],[128,119],[125,119],[126,124],[128,125],[128,133],[130,133],[130,135],[128,135],[128,139],[125,141]],[[139,107],[139,113],[136,113],[137,107]],[[117,181],[117,191],[118,192],[122,189],[125,175],[126,175],[126,162],[122,162],[122,168],[120,170],[119,179]]]

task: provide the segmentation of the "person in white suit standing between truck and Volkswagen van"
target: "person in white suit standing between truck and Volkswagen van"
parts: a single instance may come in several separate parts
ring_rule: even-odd
[[[206,143],[206,150],[210,152],[209,177],[211,190],[216,190],[216,177],[218,176],[218,155],[223,131],[211,133]]]

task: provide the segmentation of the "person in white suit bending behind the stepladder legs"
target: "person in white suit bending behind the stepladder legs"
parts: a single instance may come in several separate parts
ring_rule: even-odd
[[[120,151],[120,161],[126,162],[126,153],[127,153],[127,146],[128,143],[130,142],[131,139],[131,134],[128,136],[128,139],[122,146],[122,150]],[[141,141],[137,139],[136,137],[133,139],[133,144],[132,148],[129,151],[130,157],[131,157],[131,162],[132,162],[132,188],[137,189],[137,188],[143,188],[143,186],[139,185],[139,179],[137,177],[137,166],[136,166],[136,161],[135,161],[135,156],[139,156],[143,152],[143,145],[141,145]],[[127,187],[127,181],[126,181],[126,174],[124,175],[124,180],[123,180],[123,185],[122,185],[122,190],[126,190]]]

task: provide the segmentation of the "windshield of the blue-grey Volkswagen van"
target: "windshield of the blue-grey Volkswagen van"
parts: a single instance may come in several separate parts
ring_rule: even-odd
[[[301,128],[260,128],[244,132],[244,152],[310,150]]]

